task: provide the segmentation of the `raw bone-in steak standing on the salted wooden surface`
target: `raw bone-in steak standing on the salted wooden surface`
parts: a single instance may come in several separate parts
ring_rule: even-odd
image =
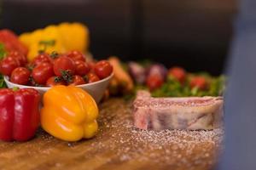
[[[213,129],[222,125],[223,114],[222,97],[153,98],[138,91],[133,103],[141,129]]]

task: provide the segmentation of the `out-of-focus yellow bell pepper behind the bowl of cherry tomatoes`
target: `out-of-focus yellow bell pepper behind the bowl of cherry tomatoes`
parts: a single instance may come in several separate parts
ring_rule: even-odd
[[[70,50],[87,52],[89,31],[81,23],[61,23],[59,26],[50,25],[44,29],[23,33],[19,39],[29,48],[27,56],[32,61],[40,50],[49,54],[53,51],[65,53]],[[48,43],[45,48],[44,42],[53,43]]]

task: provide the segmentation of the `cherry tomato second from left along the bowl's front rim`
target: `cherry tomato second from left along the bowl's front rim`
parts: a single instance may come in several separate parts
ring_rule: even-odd
[[[53,76],[53,66],[49,63],[41,63],[32,70],[32,78],[38,84],[44,85],[49,77]]]

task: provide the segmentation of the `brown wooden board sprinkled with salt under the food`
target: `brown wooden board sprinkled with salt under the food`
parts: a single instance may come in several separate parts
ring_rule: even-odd
[[[223,131],[142,131],[132,125],[131,101],[100,105],[96,138],[68,143],[43,130],[25,143],[0,142],[0,169],[210,169]]]

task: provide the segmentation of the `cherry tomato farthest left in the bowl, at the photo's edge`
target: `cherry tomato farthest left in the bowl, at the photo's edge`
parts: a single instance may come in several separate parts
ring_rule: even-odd
[[[3,75],[10,76],[15,68],[20,66],[20,62],[12,57],[4,58],[0,63],[0,72]]]

